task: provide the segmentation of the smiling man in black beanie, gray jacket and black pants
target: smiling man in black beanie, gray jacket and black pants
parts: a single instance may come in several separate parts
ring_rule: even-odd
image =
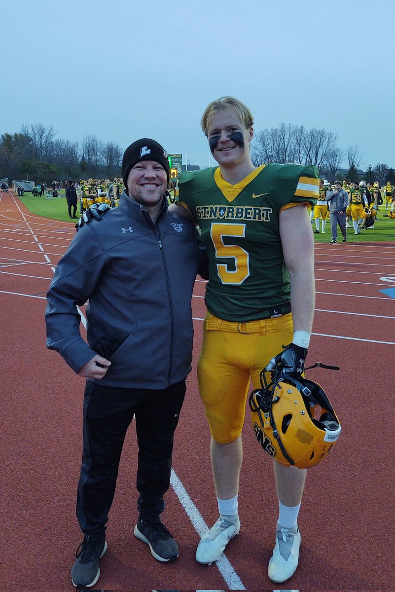
[[[147,138],[124,153],[119,207],[85,214],[47,294],[47,347],[85,377],[76,514],[84,538],[72,582],[98,581],[125,435],[135,417],[140,493],[135,536],[158,561],[178,556],[161,523],[192,360],[191,298],[205,253],[192,222],[167,209],[169,160]],[[102,204],[103,205],[103,204]],[[101,217],[99,224],[95,217]],[[87,223],[89,222],[89,223]],[[82,253],[84,254],[82,256]],[[87,339],[77,306],[89,300]]]

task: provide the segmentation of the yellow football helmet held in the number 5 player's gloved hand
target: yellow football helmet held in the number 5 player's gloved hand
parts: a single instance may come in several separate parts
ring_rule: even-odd
[[[277,369],[272,372],[270,384],[262,371],[261,385],[261,390],[251,392],[248,403],[252,429],[264,451],[281,465],[299,469],[323,461],[341,432],[323,388],[307,378],[286,377]]]

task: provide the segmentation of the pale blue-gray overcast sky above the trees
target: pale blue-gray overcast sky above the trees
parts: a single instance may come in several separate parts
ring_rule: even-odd
[[[0,134],[146,136],[208,166],[200,117],[234,95],[255,132],[323,127],[395,167],[393,0],[14,0],[1,21]]]

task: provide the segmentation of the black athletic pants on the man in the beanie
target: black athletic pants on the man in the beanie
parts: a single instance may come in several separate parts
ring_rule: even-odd
[[[135,416],[138,442],[137,509],[158,522],[170,486],[173,435],[185,396],[185,380],[163,390],[114,388],[86,382],[83,453],[76,514],[86,535],[103,536],[114,499],[118,465]]]

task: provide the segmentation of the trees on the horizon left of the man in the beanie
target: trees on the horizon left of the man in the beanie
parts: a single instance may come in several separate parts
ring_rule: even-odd
[[[0,178],[40,183],[80,178],[114,178],[123,150],[115,142],[85,136],[82,142],[56,139],[53,126],[34,123],[0,136]]]

